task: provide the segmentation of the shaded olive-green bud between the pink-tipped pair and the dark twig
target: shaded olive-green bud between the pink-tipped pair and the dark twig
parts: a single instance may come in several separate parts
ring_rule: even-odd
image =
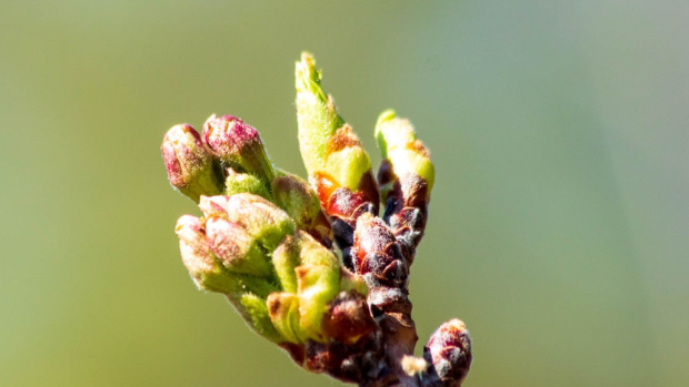
[[[321,208],[318,195],[301,177],[278,170],[272,181],[274,203],[304,230],[326,246],[332,243],[332,228]]]

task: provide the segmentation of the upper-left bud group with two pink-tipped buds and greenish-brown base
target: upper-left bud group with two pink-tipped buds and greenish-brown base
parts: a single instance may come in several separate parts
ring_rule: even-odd
[[[259,132],[242,120],[213,114],[202,135],[189,124],[176,125],[161,150],[170,183],[194,202],[251,193],[273,202],[298,228],[331,246],[332,227],[316,192],[301,177],[273,167]]]

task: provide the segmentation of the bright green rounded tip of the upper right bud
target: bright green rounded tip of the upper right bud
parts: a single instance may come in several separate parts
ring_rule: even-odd
[[[376,124],[376,141],[383,159],[392,164],[395,174],[403,176],[413,174],[426,180],[430,196],[436,170],[430,160],[428,149],[417,140],[413,126],[408,120],[397,119],[395,111],[387,110],[378,118]],[[381,186],[381,191],[390,187]],[[381,195],[386,197],[386,195]]]

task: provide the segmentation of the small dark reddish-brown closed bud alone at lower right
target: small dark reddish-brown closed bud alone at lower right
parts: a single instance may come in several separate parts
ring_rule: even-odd
[[[440,325],[423,353],[427,360],[433,364],[443,386],[460,386],[472,359],[471,337],[465,323],[456,318]]]

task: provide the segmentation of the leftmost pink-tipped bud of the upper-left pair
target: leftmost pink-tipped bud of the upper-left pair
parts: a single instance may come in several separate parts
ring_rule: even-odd
[[[189,124],[173,126],[160,145],[170,184],[199,202],[201,195],[222,192],[219,165],[213,163],[199,133]]]

